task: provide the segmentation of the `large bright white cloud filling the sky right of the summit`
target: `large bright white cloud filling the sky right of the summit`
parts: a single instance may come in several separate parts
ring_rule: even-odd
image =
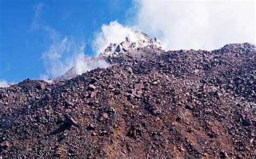
[[[168,40],[169,49],[216,49],[225,44],[255,44],[255,2],[134,1],[136,24]]]

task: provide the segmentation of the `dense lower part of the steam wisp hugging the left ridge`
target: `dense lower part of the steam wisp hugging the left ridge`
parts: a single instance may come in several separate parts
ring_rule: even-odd
[[[110,65],[104,60],[95,60],[86,57],[84,42],[76,42],[72,36],[60,39],[60,34],[52,28],[47,28],[52,44],[42,54],[42,59],[46,68],[46,73],[41,75],[41,79],[51,82],[49,78],[63,75],[70,68],[76,75],[85,73],[92,69],[107,68]]]

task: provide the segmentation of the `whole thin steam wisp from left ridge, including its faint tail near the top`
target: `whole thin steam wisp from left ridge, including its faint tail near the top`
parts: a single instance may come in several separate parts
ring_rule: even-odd
[[[51,82],[50,78],[56,78],[63,75],[70,68],[74,68],[76,74],[82,74],[85,71],[90,71],[97,67],[108,67],[105,61],[99,60],[94,62],[84,61],[85,43],[83,41],[76,41],[72,35],[63,36],[57,30],[45,25],[41,21],[43,16],[43,3],[34,6],[35,15],[32,19],[31,29],[33,31],[42,31],[48,35],[51,44],[46,47],[42,53],[42,60],[45,67],[45,73],[40,77],[44,81]],[[65,15],[68,18],[70,13]]]

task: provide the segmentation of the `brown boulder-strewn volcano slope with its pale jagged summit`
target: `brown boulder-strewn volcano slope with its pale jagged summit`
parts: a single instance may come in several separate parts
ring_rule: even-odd
[[[255,46],[156,42],[127,38],[94,59],[107,68],[0,88],[1,158],[255,158]]]

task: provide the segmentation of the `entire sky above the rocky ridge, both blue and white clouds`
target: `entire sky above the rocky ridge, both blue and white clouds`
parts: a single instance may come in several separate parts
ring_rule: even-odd
[[[255,1],[0,0],[0,86],[57,77],[135,30],[166,50],[255,44]]]

